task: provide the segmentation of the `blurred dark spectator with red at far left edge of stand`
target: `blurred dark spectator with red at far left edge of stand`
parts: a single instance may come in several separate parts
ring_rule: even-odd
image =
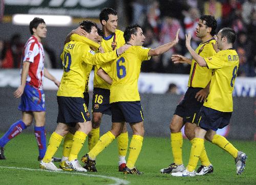
[[[9,43],[4,45],[2,68],[19,68],[22,61],[24,43],[20,40],[20,34],[14,34]]]

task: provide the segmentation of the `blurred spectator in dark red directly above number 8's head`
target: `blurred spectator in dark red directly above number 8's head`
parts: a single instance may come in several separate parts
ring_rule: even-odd
[[[231,27],[241,12],[242,6],[237,0],[226,0],[222,6],[222,27]]]

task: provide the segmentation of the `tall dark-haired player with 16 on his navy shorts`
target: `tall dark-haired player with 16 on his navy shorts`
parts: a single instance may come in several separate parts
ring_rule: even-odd
[[[111,52],[119,47],[121,47],[125,41],[123,38],[123,32],[117,30],[118,17],[117,12],[112,8],[103,8],[99,14],[100,23],[102,25],[103,31],[103,40],[101,45],[95,45],[95,43],[87,42],[88,40],[84,40],[77,35],[72,35],[73,39],[79,41],[83,39],[86,41],[91,47],[97,47],[99,49],[103,49],[104,52]],[[72,33],[72,32],[71,32]],[[76,29],[73,33],[77,33],[79,35],[83,35],[81,29]],[[71,35],[71,34],[70,34]],[[70,35],[68,37],[70,37]],[[105,82],[98,75],[98,71],[103,72],[105,75],[112,75],[111,71],[111,62],[104,64],[104,71],[102,71],[101,65],[95,65],[94,68],[94,80],[93,80],[93,101],[92,101],[92,131],[89,134],[88,144],[89,151],[96,145],[99,140],[99,127],[102,120],[103,114],[111,115],[111,107],[110,107],[110,84]],[[126,130],[126,124],[123,127],[122,133],[118,136],[118,153],[119,153],[119,171],[122,171],[125,167],[126,160],[125,156],[127,153],[128,147],[128,133]],[[84,166],[84,168],[87,168]]]

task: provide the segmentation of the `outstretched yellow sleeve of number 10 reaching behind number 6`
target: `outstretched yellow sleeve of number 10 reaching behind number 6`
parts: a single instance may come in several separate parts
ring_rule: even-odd
[[[102,64],[102,63],[114,60],[116,58],[117,58],[116,51],[107,52],[107,53],[95,53],[92,50],[88,50],[84,52],[82,55],[82,61],[91,65]]]

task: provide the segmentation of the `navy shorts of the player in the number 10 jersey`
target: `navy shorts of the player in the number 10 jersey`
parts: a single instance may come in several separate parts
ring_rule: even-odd
[[[76,123],[91,121],[86,103],[78,97],[58,97],[57,123],[75,126]]]

